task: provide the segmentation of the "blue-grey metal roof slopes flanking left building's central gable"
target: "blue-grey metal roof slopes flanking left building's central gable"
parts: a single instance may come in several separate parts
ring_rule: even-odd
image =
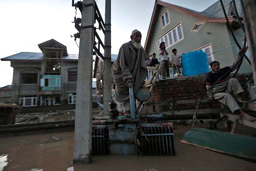
[[[41,62],[44,57],[43,53],[36,52],[20,52],[5,58],[1,58],[1,61],[30,61],[30,62]],[[78,54],[68,54],[63,56],[61,60],[78,60]]]

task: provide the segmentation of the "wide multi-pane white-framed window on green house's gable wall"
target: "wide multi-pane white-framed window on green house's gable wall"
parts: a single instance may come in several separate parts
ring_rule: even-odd
[[[178,30],[178,27],[180,28],[180,31]],[[180,35],[182,36],[182,38],[180,38]],[[172,40],[170,40],[170,36],[171,36]],[[176,37],[175,42],[174,42],[174,40],[175,40],[174,36]],[[166,38],[167,38],[167,43],[166,43]],[[162,35],[160,38],[158,38],[156,40],[157,50],[159,49],[159,45],[161,42],[165,42],[165,45],[166,45],[165,47],[167,49],[169,47],[172,47],[176,43],[182,41],[183,39],[184,39],[184,33],[183,33],[182,25],[180,22],[180,23],[176,24],[176,26],[171,28],[169,31],[167,31],[167,33],[165,33],[164,35]],[[171,41],[172,41],[172,44],[171,44]]]

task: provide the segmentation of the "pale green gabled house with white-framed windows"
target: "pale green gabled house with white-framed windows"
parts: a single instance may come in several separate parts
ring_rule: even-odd
[[[234,34],[240,46],[243,46],[245,34],[234,16],[232,0],[223,0],[223,3]],[[239,0],[236,0],[236,6],[239,16],[242,16]],[[159,59],[158,48],[161,42],[165,42],[169,57],[174,48],[178,54],[201,49],[208,54],[208,62],[217,60],[221,67],[232,64],[239,51],[237,46],[233,46],[236,43],[227,28],[219,1],[197,12],[156,0],[144,46],[146,53],[156,53]],[[230,48],[213,53],[226,47]],[[249,57],[249,53],[246,55]],[[239,72],[251,72],[251,66],[245,59]]]

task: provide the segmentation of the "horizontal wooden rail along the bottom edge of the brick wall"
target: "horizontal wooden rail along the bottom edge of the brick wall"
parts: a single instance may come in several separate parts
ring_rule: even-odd
[[[223,109],[217,108],[217,109],[199,109],[197,114],[206,114],[206,113],[220,113]],[[180,110],[180,111],[174,111],[174,115],[193,115],[195,113],[195,110]],[[171,115],[170,111],[164,111],[160,114],[163,115]]]

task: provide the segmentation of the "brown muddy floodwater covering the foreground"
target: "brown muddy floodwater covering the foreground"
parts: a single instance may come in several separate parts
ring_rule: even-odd
[[[196,127],[207,128],[206,124]],[[219,125],[221,127],[221,125]],[[183,144],[191,125],[174,130],[177,156],[93,156],[93,163],[74,165],[74,132],[0,138],[0,171],[255,171],[256,163]],[[224,130],[223,127],[220,130]],[[238,125],[236,133],[252,136],[256,129]]]

